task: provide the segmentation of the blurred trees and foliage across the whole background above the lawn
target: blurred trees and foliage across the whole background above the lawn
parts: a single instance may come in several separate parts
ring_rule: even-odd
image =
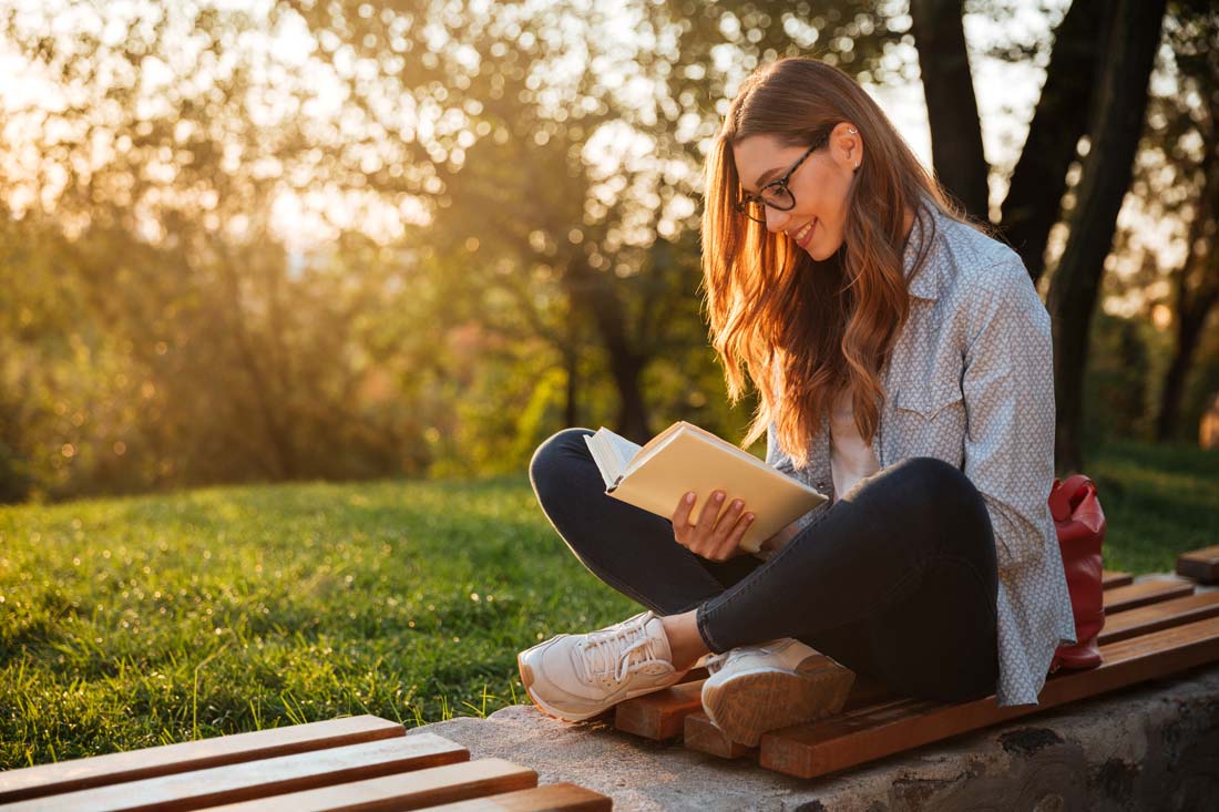
[[[0,500],[519,472],[574,424],[739,436],[753,404],[725,402],[700,313],[700,169],[783,55],[891,100],[922,67],[936,169],[1104,358],[1059,388],[1124,395],[1076,446],[1186,436],[1219,385],[1207,5],[0,2],[26,78],[2,96]],[[1124,22],[1154,73],[1140,56],[1097,95]],[[1008,162],[973,102],[996,55],[1045,76]],[[1107,208],[1074,227],[1097,173]],[[1091,297],[1056,307],[1068,279]]]

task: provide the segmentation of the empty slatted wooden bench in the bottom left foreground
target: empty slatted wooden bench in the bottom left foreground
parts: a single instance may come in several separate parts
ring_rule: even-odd
[[[610,810],[574,784],[538,785],[502,758],[469,760],[374,716],[317,722],[0,772],[4,812],[158,810]]]

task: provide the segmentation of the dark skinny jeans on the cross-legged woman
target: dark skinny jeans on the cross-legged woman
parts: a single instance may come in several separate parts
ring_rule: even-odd
[[[606,495],[588,434],[547,439],[529,478],[567,546],[613,589],[661,614],[696,608],[714,652],[796,638],[902,694],[959,701],[995,691],[995,540],[981,495],[953,466],[903,460],[769,561],[714,562],[679,545],[668,519]]]

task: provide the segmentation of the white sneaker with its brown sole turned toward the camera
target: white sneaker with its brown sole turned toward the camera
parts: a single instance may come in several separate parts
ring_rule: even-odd
[[[707,717],[751,747],[767,730],[837,713],[855,682],[855,672],[790,638],[716,655],[707,671]]]

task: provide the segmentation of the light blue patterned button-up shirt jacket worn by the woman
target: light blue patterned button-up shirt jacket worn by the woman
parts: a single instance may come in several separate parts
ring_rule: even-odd
[[[926,217],[928,215],[924,215]],[[1054,393],[1050,316],[1019,256],[944,215],[915,222],[906,248],[911,310],[881,372],[885,404],[872,450],[880,467],[929,456],[962,469],[986,501],[998,560],[997,700],[1037,701],[1054,649],[1075,625],[1047,499],[1053,483]],[[934,230],[934,235],[931,232]],[[829,430],[796,469],[775,427],[767,462],[834,501]]]

